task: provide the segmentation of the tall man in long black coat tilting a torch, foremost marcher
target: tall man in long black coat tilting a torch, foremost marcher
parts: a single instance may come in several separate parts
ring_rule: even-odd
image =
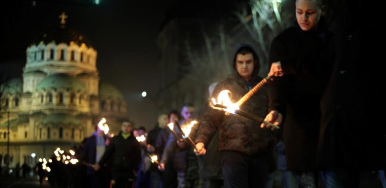
[[[315,187],[320,100],[334,58],[332,33],[325,30],[325,7],[320,0],[297,0],[294,26],[271,44],[266,120],[281,124],[287,169],[296,171],[298,186]],[[281,115],[282,114],[282,115]]]

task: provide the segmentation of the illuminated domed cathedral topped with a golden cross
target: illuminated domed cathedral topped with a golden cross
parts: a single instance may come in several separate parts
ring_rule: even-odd
[[[57,147],[78,145],[102,117],[111,133],[118,133],[128,118],[122,93],[100,82],[98,53],[86,36],[67,28],[66,17],[63,13],[60,27],[36,37],[27,48],[22,77],[0,88],[3,166],[6,159],[10,167],[24,162],[33,166]]]

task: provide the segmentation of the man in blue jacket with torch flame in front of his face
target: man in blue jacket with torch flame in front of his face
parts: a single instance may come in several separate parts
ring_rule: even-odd
[[[92,133],[92,136],[85,139],[83,148],[80,152],[81,160],[89,164],[98,163],[106,150],[107,136],[97,124],[94,126],[95,132]],[[101,169],[98,171],[95,171],[92,167],[87,166],[86,176],[88,182],[87,186],[89,187],[107,188],[110,185],[110,175],[105,165],[101,166]]]

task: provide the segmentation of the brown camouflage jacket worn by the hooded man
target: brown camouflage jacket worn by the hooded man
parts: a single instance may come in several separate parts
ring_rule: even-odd
[[[237,72],[234,72],[216,86],[212,97],[217,99],[220,91],[227,89],[232,92],[232,102],[237,102],[261,80],[261,77],[256,76],[247,83]],[[267,88],[265,86],[261,88],[240,107],[240,110],[264,118],[268,111]],[[220,128],[220,151],[233,150],[248,155],[268,154],[277,141],[276,132],[260,128],[260,122],[238,115],[225,115],[223,111],[216,109],[209,109],[200,124],[201,128],[195,142],[203,142],[207,146],[216,130]]]

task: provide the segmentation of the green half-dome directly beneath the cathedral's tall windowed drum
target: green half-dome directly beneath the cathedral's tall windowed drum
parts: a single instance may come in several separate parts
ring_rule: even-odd
[[[81,81],[66,74],[55,74],[46,77],[36,87],[36,90],[41,89],[67,89],[87,92]]]

